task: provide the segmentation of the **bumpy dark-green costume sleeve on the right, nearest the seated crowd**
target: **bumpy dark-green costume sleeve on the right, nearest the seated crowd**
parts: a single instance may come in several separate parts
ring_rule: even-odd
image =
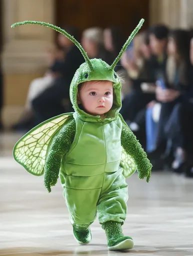
[[[146,181],[148,182],[151,175],[152,164],[147,158],[141,144],[136,139],[136,136],[124,123],[122,124],[121,130],[121,145],[126,153],[133,158],[137,167],[138,177],[144,178],[146,176]]]

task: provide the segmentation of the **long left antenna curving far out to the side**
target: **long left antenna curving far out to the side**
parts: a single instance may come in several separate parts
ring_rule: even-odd
[[[82,48],[80,43],[72,35],[68,34],[64,29],[62,29],[58,26],[52,25],[50,23],[47,23],[47,22],[35,21],[35,20],[24,20],[24,21],[20,21],[20,22],[15,22],[11,25],[11,27],[20,26],[20,25],[24,25],[24,24],[36,24],[36,25],[47,26],[47,27],[50,27],[50,28],[56,30],[57,32],[59,32],[61,34],[64,34],[69,40],[71,40],[78,47],[78,49],[80,50],[81,54],[83,55],[85,61],[88,63],[90,70],[93,69],[90,59],[88,58],[88,55],[86,54],[85,50]]]

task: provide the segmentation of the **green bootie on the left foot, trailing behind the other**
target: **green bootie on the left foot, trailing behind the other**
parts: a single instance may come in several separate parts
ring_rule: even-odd
[[[73,236],[79,244],[87,244],[91,240],[89,224],[73,224]]]

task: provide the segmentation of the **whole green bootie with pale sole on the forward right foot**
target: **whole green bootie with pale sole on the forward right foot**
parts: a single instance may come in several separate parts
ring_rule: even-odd
[[[134,246],[130,236],[124,236],[121,224],[115,221],[106,221],[102,224],[106,233],[107,245],[109,250],[128,250]]]

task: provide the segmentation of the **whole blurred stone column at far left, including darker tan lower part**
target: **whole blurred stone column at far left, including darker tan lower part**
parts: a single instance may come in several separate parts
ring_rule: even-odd
[[[53,45],[54,31],[27,24],[15,28],[16,21],[39,20],[54,23],[54,0],[2,0],[4,75],[3,122],[9,126],[18,120],[25,103],[28,85],[42,76],[47,66],[46,50]]]

